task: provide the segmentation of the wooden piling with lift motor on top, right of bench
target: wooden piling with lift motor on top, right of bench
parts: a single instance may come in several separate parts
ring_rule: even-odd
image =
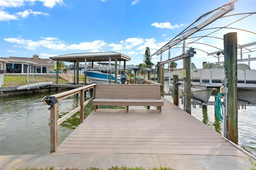
[[[186,70],[186,78],[184,78],[184,97],[186,97],[186,101],[184,102],[185,107],[184,111],[191,115],[191,57],[184,57],[184,70]]]

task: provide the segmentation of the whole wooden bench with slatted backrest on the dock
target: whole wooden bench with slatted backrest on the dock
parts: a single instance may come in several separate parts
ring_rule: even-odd
[[[161,84],[97,84],[92,100],[94,111],[98,106],[164,106]]]

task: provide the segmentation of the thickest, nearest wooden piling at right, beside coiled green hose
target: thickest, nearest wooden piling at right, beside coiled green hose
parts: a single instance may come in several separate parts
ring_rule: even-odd
[[[224,35],[224,65],[228,79],[228,134],[230,140],[238,144],[238,108],[237,108],[237,33]]]

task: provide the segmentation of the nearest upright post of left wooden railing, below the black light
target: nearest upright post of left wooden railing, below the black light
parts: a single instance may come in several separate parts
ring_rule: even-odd
[[[50,111],[50,144],[51,153],[58,149],[58,103]]]

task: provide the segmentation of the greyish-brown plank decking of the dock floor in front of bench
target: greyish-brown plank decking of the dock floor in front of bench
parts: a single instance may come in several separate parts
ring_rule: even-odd
[[[186,154],[248,156],[214,129],[164,99],[155,109],[98,109],[55,154]]]

